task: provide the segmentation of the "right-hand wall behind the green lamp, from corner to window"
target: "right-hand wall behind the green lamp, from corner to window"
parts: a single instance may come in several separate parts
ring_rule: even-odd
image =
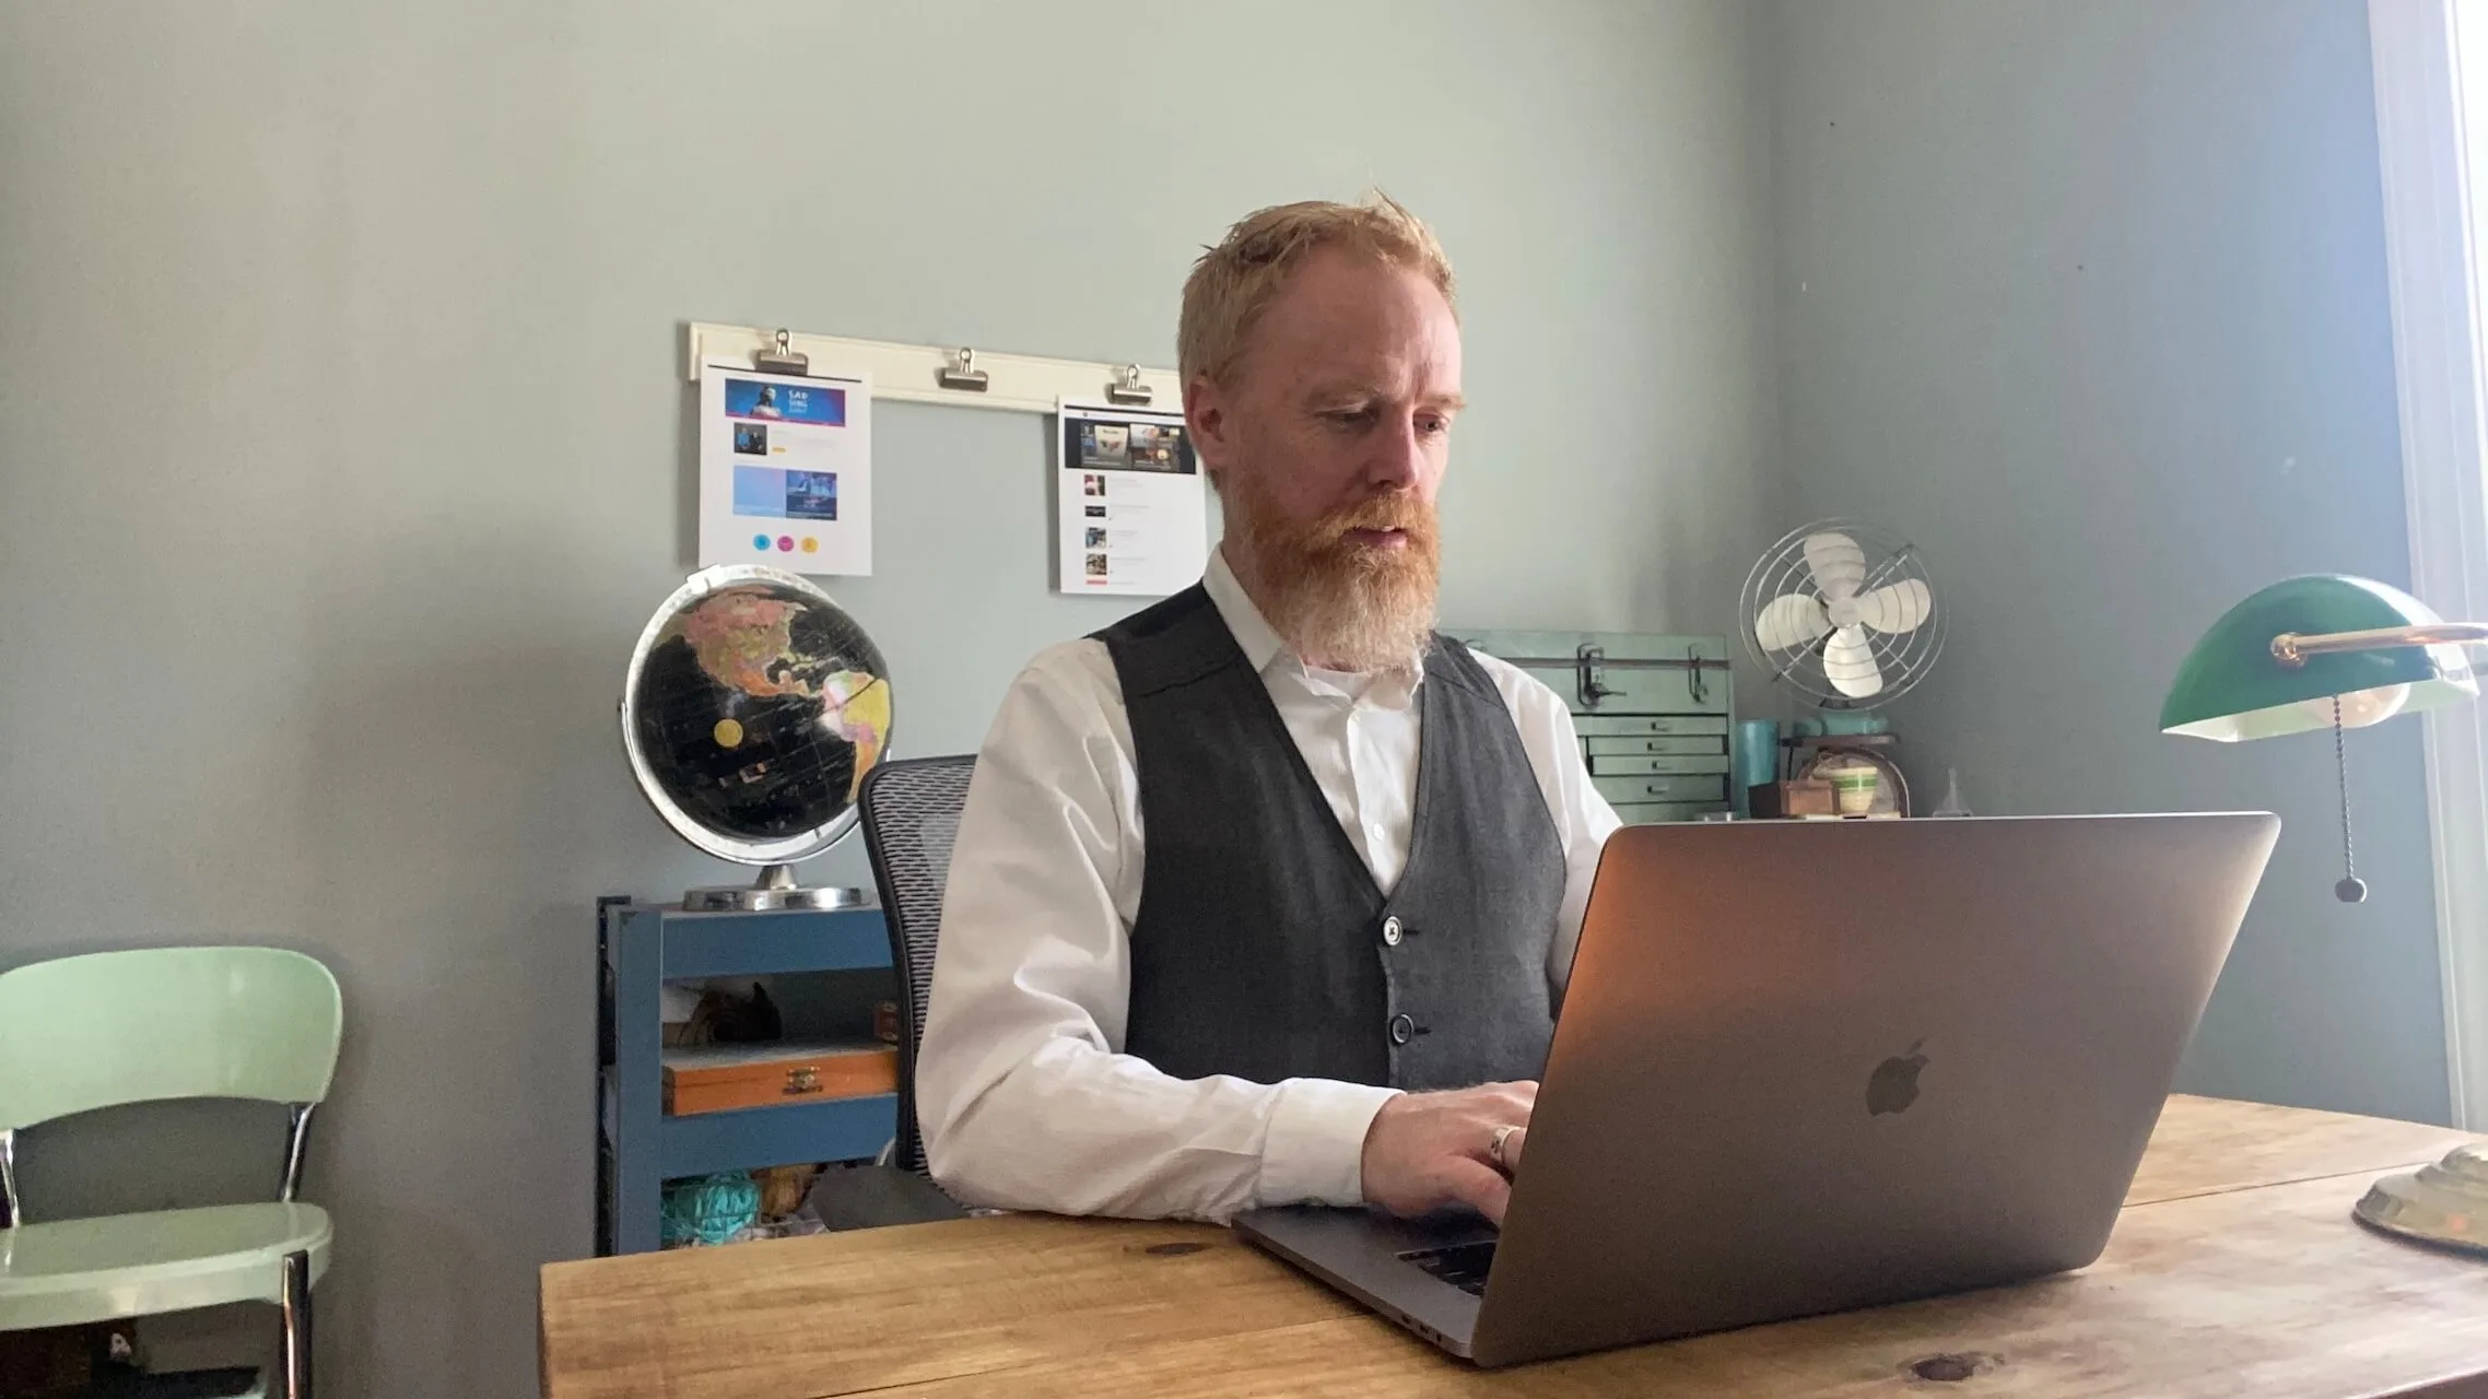
[[[2443,1120],[2416,722],[2155,732],[2229,602],[2408,583],[2366,5],[1784,0],[1791,503],[1913,535],[1951,642],[1896,709],[1983,812],[2259,807],[2284,836],[2182,1085]]]

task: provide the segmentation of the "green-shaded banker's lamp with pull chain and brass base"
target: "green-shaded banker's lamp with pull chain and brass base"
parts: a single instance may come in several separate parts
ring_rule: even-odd
[[[2160,729],[2242,742],[2334,732],[2341,774],[2344,904],[2366,899],[2349,839],[2341,732],[2393,714],[2478,700],[2466,645],[2483,622],[2446,622],[2426,602],[2366,578],[2289,578],[2229,607],[2177,667]],[[2488,1252],[2488,1148],[2453,1148],[2436,1165],[2379,1180],[2356,1217],[2433,1245]]]

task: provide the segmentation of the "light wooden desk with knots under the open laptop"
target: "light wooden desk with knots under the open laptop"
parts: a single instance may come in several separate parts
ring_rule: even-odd
[[[2349,1207],[2463,1133],[2172,1098],[2065,1277],[1478,1372],[1204,1225],[1005,1215],[542,1272],[547,1399],[2488,1397],[2488,1262]],[[1938,1384],[1913,1374],[1970,1369]]]

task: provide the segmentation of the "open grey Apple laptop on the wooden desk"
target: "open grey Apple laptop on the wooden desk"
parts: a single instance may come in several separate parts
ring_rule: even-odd
[[[1237,1230],[1478,1364],[2020,1282],[2107,1245],[2272,814],[1625,826],[1503,1230]]]

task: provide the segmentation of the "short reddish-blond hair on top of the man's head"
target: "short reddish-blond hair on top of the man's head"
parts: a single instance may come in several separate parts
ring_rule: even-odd
[[[1378,189],[1363,204],[1304,199],[1256,209],[1227,229],[1184,279],[1184,311],[1174,329],[1174,366],[1184,383],[1194,376],[1224,383],[1244,358],[1254,324],[1286,289],[1286,276],[1309,251],[1326,246],[1423,274],[1443,301],[1453,301],[1443,244],[1423,219]]]

